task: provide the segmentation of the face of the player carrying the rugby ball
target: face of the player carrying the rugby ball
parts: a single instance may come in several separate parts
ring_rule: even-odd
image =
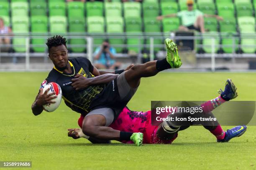
[[[68,52],[65,45],[51,47],[49,57],[57,69],[65,70],[67,68]]]

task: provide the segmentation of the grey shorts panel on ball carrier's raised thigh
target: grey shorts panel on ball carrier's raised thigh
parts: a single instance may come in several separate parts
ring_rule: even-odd
[[[138,89],[138,87],[130,87],[127,80],[125,79],[125,72],[122,72],[120,75],[118,75],[116,82],[121,100],[130,100]]]

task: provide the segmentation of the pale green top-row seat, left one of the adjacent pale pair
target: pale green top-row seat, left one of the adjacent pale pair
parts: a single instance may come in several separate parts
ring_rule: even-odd
[[[105,2],[105,16],[106,17],[122,16],[121,2]]]

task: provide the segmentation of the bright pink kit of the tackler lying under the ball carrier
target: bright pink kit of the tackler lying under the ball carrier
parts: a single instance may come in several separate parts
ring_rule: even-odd
[[[78,125],[82,128],[84,117],[81,115],[78,119]],[[129,110],[128,107],[123,108],[118,118],[109,126],[115,130],[125,132],[141,132],[144,135],[144,144],[171,144],[178,135],[171,140],[161,140],[157,137],[156,132],[158,126],[151,125],[151,110],[147,112],[136,112]],[[133,143],[129,141],[120,141],[122,143]]]

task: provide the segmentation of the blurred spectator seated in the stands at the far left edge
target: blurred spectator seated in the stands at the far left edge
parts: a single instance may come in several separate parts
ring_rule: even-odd
[[[5,26],[3,18],[0,18],[0,34],[10,34],[12,30],[10,27]],[[0,37],[0,45],[10,45],[10,38],[8,37]],[[1,52],[8,52],[10,47],[1,47]]]

